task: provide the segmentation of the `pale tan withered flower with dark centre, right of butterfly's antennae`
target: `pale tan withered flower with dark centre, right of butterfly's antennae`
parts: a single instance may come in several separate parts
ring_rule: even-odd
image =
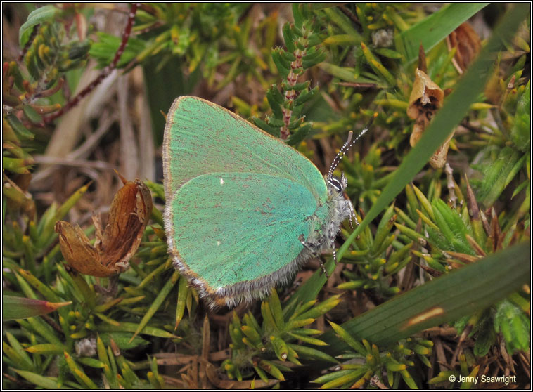
[[[418,143],[428,124],[430,124],[433,115],[442,107],[443,100],[444,91],[425,72],[417,68],[413,90],[409,97],[409,106],[407,107],[407,115],[415,120],[410,139],[411,147],[414,147]],[[454,132],[450,133],[447,140],[430,158],[430,165],[433,168],[440,169],[446,163],[449,144],[453,136]]]

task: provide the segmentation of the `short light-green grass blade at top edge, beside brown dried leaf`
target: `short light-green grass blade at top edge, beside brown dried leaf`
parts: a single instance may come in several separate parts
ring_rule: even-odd
[[[396,38],[396,47],[403,49],[406,63],[418,58],[420,44],[428,52],[447,37],[461,23],[480,11],[489,3],[452,3],[432,13],[416,25],[411,26]]]

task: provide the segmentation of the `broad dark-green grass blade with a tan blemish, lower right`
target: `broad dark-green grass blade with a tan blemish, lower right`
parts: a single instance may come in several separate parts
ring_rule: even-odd
[[[354,339],[393,344],[423,329],[458,320],[504,299],[529,282],[530,243],[515,245],[418,286],[342,325]],[[321,336],[326,353],[349,349],[333,331]]]

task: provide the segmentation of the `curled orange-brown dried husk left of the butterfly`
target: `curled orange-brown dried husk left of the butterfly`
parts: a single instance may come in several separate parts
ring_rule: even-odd
[[[111,203],[108,225],[103,228],[100,216],[93,217],[94,245],[79,226],[65,221],[56,223],[61,253],[79,273],[97,277],[121,273],[139,248],[153,207],[152,195],[141,181],[127,181],[122,176],[120,179],[124,186]]]

